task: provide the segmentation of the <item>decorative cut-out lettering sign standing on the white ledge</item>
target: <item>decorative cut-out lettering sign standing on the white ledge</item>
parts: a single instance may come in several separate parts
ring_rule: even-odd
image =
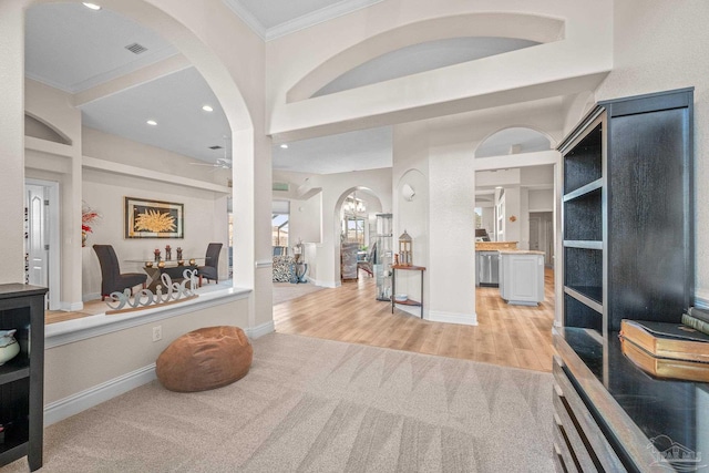
[[[198,297],[192,290],[192,288],[197,287],[197,270],[185,269],[183,276],[185,278],[182,282],[173,282],[167,274],[163,274],[161,276],[164,287],[167,288],[166,294],[163,294],[162,285],[157,286],[155,294],[150,289],[140,290],[133,300],[131,300],[131,289],[125,289],[123,292],[111,292],[111,296],[109,296],[111,300],[106,301],[106,305],[112,310],[106,310],[106,316],[132,312],[134,310],[147,309],[157,306],[169,306],[172,304],[184,302],[185,300]],[[189,285],[189,287],[187,287],[187,285]],[[126,305],[129,307],[125,307]]]

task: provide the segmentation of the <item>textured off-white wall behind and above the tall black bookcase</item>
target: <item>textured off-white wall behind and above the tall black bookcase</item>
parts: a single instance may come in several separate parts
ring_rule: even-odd
[[[695,88],[697,296],[709,301],[709,2],[616,1],[614,70],[596,100]]]

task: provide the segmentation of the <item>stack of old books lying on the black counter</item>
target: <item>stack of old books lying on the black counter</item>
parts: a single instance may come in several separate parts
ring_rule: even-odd
[[[657,378],[709,382],[709,333],[701,328],[709,328],[709,312],[693,307],[682,323],[624,319],[620,346],[635,364]]]

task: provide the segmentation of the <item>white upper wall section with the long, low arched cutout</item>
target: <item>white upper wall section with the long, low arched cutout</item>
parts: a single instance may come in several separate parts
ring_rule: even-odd
[[[387,1],[275,39],[266,45],[269,133],[295,140],[588,90],[613,65],[612,7],[610,0]],[[564,22],[563,28],[549,27],[552,19]],[[288,101],[301,81],[317,90],[392,49],[466,34],[546,43],[314,100]]]

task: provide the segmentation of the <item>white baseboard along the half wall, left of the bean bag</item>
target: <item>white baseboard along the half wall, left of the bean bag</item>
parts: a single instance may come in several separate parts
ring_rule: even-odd
[[[44,407],[44,426],[70,418],[156,379],[155,363],[96,384]]]

